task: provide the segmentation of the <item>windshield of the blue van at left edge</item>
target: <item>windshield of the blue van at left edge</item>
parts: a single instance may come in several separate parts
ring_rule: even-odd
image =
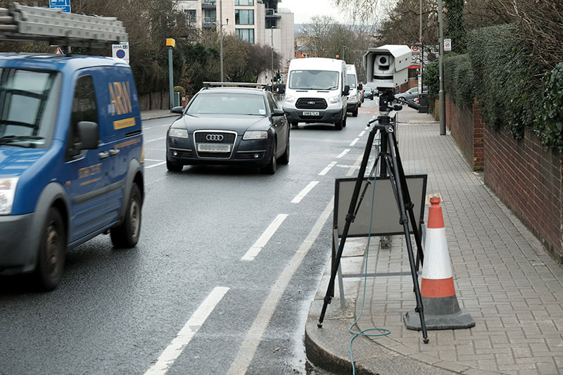
[[[49,146],[60,94],[58,72],[0,68],[0,146]]]

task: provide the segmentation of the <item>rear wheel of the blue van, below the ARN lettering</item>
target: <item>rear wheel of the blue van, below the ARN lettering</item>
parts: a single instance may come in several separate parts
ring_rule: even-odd
[[[137,184],[131,187],[125,219],[121,224],[110,229],[110,237],[116,248],[132,248],[139,241],[141,234],[141,191]]]

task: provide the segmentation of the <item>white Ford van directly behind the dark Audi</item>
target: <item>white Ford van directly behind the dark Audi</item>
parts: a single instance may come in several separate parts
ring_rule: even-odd
[[[294,58],[289,72],[284,112],[293,126],[298,122],[334,124],[346,127],[346,106],[350,87],[346,83],[346,62],[334,58]]]

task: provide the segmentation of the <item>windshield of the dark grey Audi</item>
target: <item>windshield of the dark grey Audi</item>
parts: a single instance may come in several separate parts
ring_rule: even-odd
[[[262,94],[202,93],[196,95],[186,113],[265,116],[266,104]]]

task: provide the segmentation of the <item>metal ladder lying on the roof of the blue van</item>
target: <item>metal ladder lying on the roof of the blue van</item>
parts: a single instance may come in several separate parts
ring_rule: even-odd
[[[115,17],[64,13],[60,9],[18,3],[0,8],[0,42],[105,48],[127,40],[122,21]]]

